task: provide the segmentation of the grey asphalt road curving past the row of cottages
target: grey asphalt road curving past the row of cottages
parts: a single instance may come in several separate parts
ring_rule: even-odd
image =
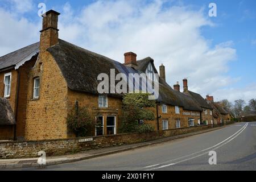
[[[216,165],[209,164],[209,151],[216,152]],[[23,170],[31,169],[42,170]],[[44,170],[256,170],[256,122]]]

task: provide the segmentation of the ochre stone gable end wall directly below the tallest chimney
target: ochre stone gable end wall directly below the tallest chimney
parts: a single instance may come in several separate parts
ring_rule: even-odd
[[[40,78],[39,98],[33,98],[34,78]],[[41,52],[28,78],[26,140],[67,139],[68,86],[50,53]]]

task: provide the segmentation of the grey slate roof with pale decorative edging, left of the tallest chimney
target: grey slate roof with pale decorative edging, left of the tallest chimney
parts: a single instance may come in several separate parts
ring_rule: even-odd
[[[30,60],[32,56],[39,53],[39,44],[38,42],[0,57],[0,70],[16,67],[19,63],[23,64]]]

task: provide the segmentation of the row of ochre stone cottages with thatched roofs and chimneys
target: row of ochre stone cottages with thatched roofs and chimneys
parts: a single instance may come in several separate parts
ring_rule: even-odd
[[[137,60],[135,53],[127,52],[119,63],[59,39],[59,15],[50,10],[43,16],[39,43],[0,57],[0,97],[9,102],[16,121],[8,129],[0,122],[0,139],[7,135],[19,140],[75,137],[66,118],[76,105],[86,106],[102,122],[95,135],[118,134],[122,94],[99,94],[98,75],[110,76],[114,69],[115,74],[146,73],[154,80],[154,73],[158,74],[151,57]],[[210,124],[212,107],[199,94],[181,93],[179,85],[172,89],[164,65],[159,70],[159,97],[152,108],[156,119],[150,121],[155,130],[193,127],[202,121]],[[204,110],[209,112],[207,117]]]

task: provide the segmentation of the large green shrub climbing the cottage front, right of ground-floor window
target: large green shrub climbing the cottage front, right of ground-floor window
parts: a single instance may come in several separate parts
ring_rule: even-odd
[[[154,113],[147,108],[155,107],[155,100],[148,100],[149,94],[135,93],[126,94],[123,98],[123,109],[121,116],[121,133],[146,133],[154,131],[154,127],[139,123],[143,121],[153,121]]]

